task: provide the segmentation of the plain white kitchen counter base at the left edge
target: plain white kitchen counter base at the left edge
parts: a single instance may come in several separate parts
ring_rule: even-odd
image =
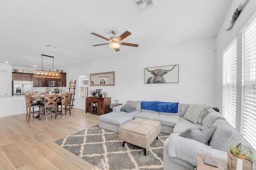
[[[0,117],[26,113],[24,96],[3,96],[0,97],[0,104],[2,106]]]

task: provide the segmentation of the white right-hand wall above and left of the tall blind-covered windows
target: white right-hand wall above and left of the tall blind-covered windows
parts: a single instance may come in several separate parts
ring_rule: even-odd
[[[250,18],[253,12],[256,10],[256,1],[249,0],[247,4],[242,9],[242,12],[238,16],[238,19],[235,21],[234,26],[230,31],[224,31],[223,28],[228,28],[232,14],[234,10],[240,4],[240,0],[233,0],[232,4],[227,12],[227,15],[220,27],[220,30],[217,35],[217,53],[216,53],[216,106],[222,111],[222,51],[226,46],[236,37],[236,33],[243,27],[244,23]],[[241,58],[241,56],[238,56]]]

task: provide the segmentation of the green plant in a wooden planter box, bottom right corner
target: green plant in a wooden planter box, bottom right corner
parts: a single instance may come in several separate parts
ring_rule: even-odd
[[[231,170],[236,170],[238,159],[242,160],[242,167],[246,170],[252,170],[252,163],[256,161],[256,157],[252,152],[242,145],[235,146],[234,139],[230,143],[228,150],[228,166]]]

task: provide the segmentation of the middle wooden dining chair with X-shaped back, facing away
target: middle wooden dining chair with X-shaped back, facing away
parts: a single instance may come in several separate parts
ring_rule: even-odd
[[[45,121],[47,122],[47,116],[57,117],[57,100],[58,94],[44,94],[44,115]]]

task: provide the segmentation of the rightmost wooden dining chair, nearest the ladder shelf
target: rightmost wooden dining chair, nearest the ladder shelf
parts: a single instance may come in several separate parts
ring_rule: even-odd
[[[71,97],[72,97],[71,93],[61,94],[61,100],[57,103],[57,105],[58,105],[58,112],[62,114],[62,117],[63,117],[63,113],[65,113],[66,115],[67,111],[69,111],[69,115],[71,115]]]

